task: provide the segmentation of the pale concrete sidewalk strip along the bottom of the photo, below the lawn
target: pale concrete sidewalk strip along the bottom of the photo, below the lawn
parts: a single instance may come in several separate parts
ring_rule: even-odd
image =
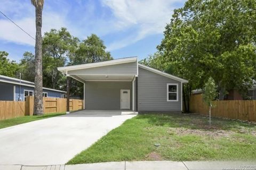
[[[0,170],[256,170],[256,161],[143,161],[143,162],[109,162],[77,165],[23,166],[0,165]]]

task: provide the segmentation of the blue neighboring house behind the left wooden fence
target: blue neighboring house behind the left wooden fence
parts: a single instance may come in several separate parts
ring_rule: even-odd
[[[0,100],[25,101],[26,96],[34,96],[34,82],[0,75]],[[44,97],[63,98],[66,91],[43,88]]]

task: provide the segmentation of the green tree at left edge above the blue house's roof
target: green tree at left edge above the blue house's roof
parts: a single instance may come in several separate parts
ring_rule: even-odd
[[[8,53],[0,51],[0,75],[15,77],[19,66],[15,61],[10,61],[7,58],[8,55]]]

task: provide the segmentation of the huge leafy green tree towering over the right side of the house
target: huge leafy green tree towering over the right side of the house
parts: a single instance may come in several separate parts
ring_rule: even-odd
[[[203,89],[212,77],[219,99],[230,89],[247,88],[255,77],[256,1],[188,0],[174,10],[157,48],[174,75],[187,79],[187,103],[192,89]],[[189,110],[189,107],[188,107]]]

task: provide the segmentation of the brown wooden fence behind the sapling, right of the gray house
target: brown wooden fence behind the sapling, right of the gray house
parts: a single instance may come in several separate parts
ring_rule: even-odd
[[[214,101],[211,115],[231,119],[256,122],[256,100]],[[191,95],[190,112],[209,115],[209,107],[203,101],[203,95]]]

